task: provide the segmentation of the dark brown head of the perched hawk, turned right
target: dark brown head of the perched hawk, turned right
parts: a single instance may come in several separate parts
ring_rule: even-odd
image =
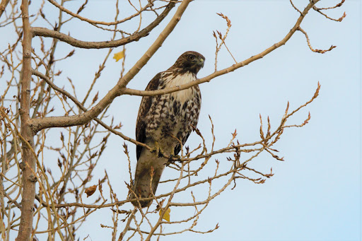
[[[205,57],[202,54],[194,51],[187,51],[181,54],[171,68],[179,69],[179,71],[186,73],[187,71],[197,74],[199,70],[204,67]]]

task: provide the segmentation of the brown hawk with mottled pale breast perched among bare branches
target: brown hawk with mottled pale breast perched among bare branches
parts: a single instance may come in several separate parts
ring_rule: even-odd
[[[204,61],[205,57],[198,52],[185,52],[170,69],[156,74],[146,90],[162,90],[195,81]],[[134,194],[139,198],[146,198],[152,196],[151,190],[153,194],[156,193],[158,182],[168,163],[162,153],[175,156],[180,152],[180,141],[182,145],[185,144],[193,127],[197,125],[200,107],[199,86],[142,98],[136,122],[136,141],[145,143],[152,149],[149,151],[142,146],[136,147],[137,166],[131,199],[135,198]],[[142,208],[151,203],[152,200],[132,201],[134,206],[140,204]]]

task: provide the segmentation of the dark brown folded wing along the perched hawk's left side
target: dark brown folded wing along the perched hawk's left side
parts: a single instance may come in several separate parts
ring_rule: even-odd
[[[160,73],[156,74],[155,77],[151,79],[148,83],[145,90],[157,90],[160,82]],[[146,117],[148,111],[150,110],[152,104],[153,96],[144,96],[141,100],[141,105],[139,105],[139,114],[137,115],[136,122],[136,141],[144,143],[146,140],[146,124],[144,122],[144,118]],[[139,160],[139,156],[141,155],[142,146],[136,147],[136,157]]]

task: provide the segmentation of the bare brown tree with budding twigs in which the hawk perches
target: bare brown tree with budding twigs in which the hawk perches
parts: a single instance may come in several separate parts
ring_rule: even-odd
[[[203,211],[206,210],[211,201],[220,197],[223,191],[229,187],[231,190],[235,189],[240,181],[263,184],[274,175],[270,167],[267,169],[262,167],[261,170],[250,167],[252,161],[265,157],[269,160],[284,160],[283,157],[279,157],[281,154],[276,150],[276,142],[281,139],[284,131],[290,128],[304,127],[308,124],[311,119],[310,114],[297,122],[292,122],[289,117],[296,112],[300,113],[300,110],[317,98],[320,91],[319,83],[314,95],[308,101],[297,105],[291,111],[289,111],[288,102],[286,110],[281,112],[281,118],[276,119],[276,122],[273,120],[273,125],[269,117],[264,118],[267,119],[265,121],[260,114],[260,122],[255,123],[259,125],[259,133],[257,133],[259,137],[255,140],[239,142],[237,139],[238,131],[235,129],[233,133],[228,133],[230,139],[223,142],[223,146],[216,148],[217,138],[211,117],[209,118],[211,127],[208,135],[202,133],[205,131],[204,128],[200,130],[194,127],[197,134],[196,139],[199,140],[196,145],[184,146],[180,139],[171,135],[180,142],[180,157],[175,158],[165,153],[159,154],[159,156],[163,155],[163,158],[168,159],[167,165],[173,172],[170,172],[172,173],[170,177],[164,178],[159,183],[162,188],[158,189],[157,196],[152,193],[153,187],[151,185],[151,196],[148,198],[141,199],[138,196],[134,199],[129,198],[129,194],[134,194],[132,190],[134,182],[132,162],[134,157],[129,153],[126,143],[123,145],[125,156],[117,156],[119,162],[113,160],[108,162],[105,158],[106,155],[103,155],[105,150],[109,150],[107,141],[110,140],[109,137],[112,134],[151,150],[150,146],[125,136],[122,134],[123,131],[119,131],[123,128],[124,123],[114,119],[110,113],[110,104],[119,95],[163,95],[209,82],[217,76],[228,74],[230,71],[264,57],[288,42],[296,31],[305,35],[308,47],[313,52],[327,52],[333,46],[327,50],[313,49],[307,31],[300,28],[300,24],[310,9],[314,9],[329,18],[324,12],[338,8],[344,3],[344,0],[340,0],[341,2],[335,6],[317,8],[314,4],[318,0],[308,1],[305,4],[308,6],[302,12],[294,6],[291,0],[291,5],[300,13],[300,16],[298,16],[296,23],[293,23],[293,28],[282,36],[284,38],[276,42],[275,45],[259,52],[259,54],[243,61],[237,62],[233,58],[235,64],[221,71],[217,69],[217,56],[218,51],[224,45],[226,47],[225,40],[229,30],[231,30],[231,21],[228,16],[218,13],[226,20],[227,28],[224,35],[217,30],[217,34],[214,33],[214,37],[216,37],[216,63],[213,74],[197,79],[192,83],[165,90],[141,91],[127,88],[129,82],[163,45],[168,35],[172,33],[191,1],[128,0],[122,3],[116,0],[115,5],[110,6],[110,12],[115,12],[114,20],[105,22],[81,16],[83,9],[90,7],[88,0],[83,0],[78,11],[69,10],[74,8],[67,9],[64,7],[68,0],[49,0],[51,4],[57,7],[56,10],[59,11],[57,16],[48,11],[46,7],[48,1],[42,1],[42,3],[29,8],[30,1],[28,0],[23,0],[21,6],[18,1],[1,0],[0,16],[1,13],[4,13],[5,7],[6,14],[0,22],[0,28],[5,26],[11,28],[12,34],[15,35],[13,39],[9,40],[12,42],[9,42],[7,47],[0,49],[0,61],[4,63],[0,66],[0,78],[5,80],[2,83],[5,88],[2,89],[0,98],[1,239],[13,240],[15,237],[13,238],[11,235],[15,233],[18,235],[18,241],[38,240],[37,235],[40,237],[39,240],[87,240],[91,238],[92,232],[89,231],[89,235],[86,237],[87,233],[85,234],[84,230],[80,228],[88,224],[87,221],[93,218],[93,213],[105,213],[108,209],[112,211],[111,216],[103,218],[100,227],[112,232],[108,238],[112,241],[117,240],[117,237],[118,240],[152,240],[161,236],[185,232],[211,233],[218,228],[218,225],[209,228],[209,230],[197,227]],[[5,7],[3,7],[4,3]],[[126,73],[124,69],[127,66],[127,54],[124,50],[127,46],[125,45],[139,40],[141,37],[146,37],[160,21],[165,19],[171,8],[177,3],[181,4],[175,11],[173,18],[169,20],[168,25],[157,39],[150,43],[151,46]],[[128,7],[131,8],[132,13],[122,17],[122,20],[118,20],[121,12],[124,13],[124,9],[119,9],[121,4],[129,4]],[[54,8],[52,9],[54,10]],[[115,11],[112,11],[113,9]],[[29,11],[33,12],[29,13]],[[158,12],[163,12],[161,13],[163,16],[160,16]],[[49,13],[52,14],[48,18]],[[153,16],[153,13],[156,17]],[[64,20],[64,14],[69,14],[69,18]],[[150,18],[151,20],[144,30],[139,31],[145,23],[146,16],[149,15],[153,18]],[[21,17],[23,18],[22,22],[20,21]],[[77,20],[83,21],[85,25],[90,24],[103,31],[112,32],[112,38],[109,42],[86,42],[59,33],[64,23],[73,23]],[[134,35],[129,34],[129,37],[124,37],[127,33],[120,30],[121,26],[119,25],[128,20],[132,20],[128,23],[133,26],[132,33]],[[54,30],[31,27],[31,25],[38,23],[49,24]],[[107,28],[111,25],[112,29]],[[122,35],[122,39],[115,40],[118,33]],[[34,42],[32,46],[32,38],[35,36],[40,36],[37,39],[39,41]],[[20,49],[20,42],[23,43],[23,50]],[[71,63],[73,60],[71,57],[78,54],[74,50],[64,54],[57,45],[60,42],[68,42],[70,45],[81,48],[110,48],[105,52],[105,58],[100,61],[98,69],[95,70],[93,81],[89,83],[85,91],[83,89],[79,91],[79,88],[83,88],[83,86],[78,81],[71,79],[74,76],[68,76],[68,71],[65,72],[66,76],[64,76],[62,69],[59,69],[62,68],[62,64],[58,63],[66,64],[66,61]],[[97,85],[103,84],[100,83],[102,81],[100,75],[104,73],[103,70],[107,69],[107,61],[110,59],[112,47],[119,45],[124,46],[123,52],[118,53],[122,59],[122,68],[119,70],[120,77],[115,86],[110,86],[107,89],[109,92],[105,96],[99,97]],[[231,52],[231,49],[226,47],[226,50],[233,57],[235,53]],[[61,83],[64,86],[68,84],[65,88],[59,84],[56,85],[53,82],[56,79],[59,81],[65,79],[69,83],[65,83],[66,81]],[[78,98],[79,96],[82,98]],[[264,126],[263,121],[265,122]],[[74,127],[75,125],[76,127]],[[52,127],[63,128],[50,129]],[[206,138],[206,136],[210,137]],[[242,138],[244,139],[244,136]],[[267,155],[261,155],[262,153]],[[126,194],[127,189],[119,191],[118,187],[117,189],[112,188],[112,181],[115,180],[108,177],[107,171],[110,171],[110,168],[114,167],[113,165],[120,165],[119,167],[124,169],[124,176],[116,175],[113,178],[116,178],[116,182],[119,180],[121,182],[122,180],[126,181],[124,186],[129,190],[128,195]],[[105,168],[104,177],[100,177],[99,172],[94,172],[99,168]],[[152,170],[150,171],[153,173]],[[107,184],[103,185],[105,182]],[[233,187],[231,188],[231,186]],[[194,195],[195,189],[202,189],[203,192],[197,192]],[[160,190],[164,192],[160,192]],[[109,199],[105,198],[106,195],[109,195]],[[92,196],[92,198],[88,199],[88,196]],[[154,202],[148,208],[131,207],[130,202],[132,201],[140,203],[146,200]],[[180,211],[182,217],[173,216],[174,212],[180,213]],[[173,218],[170,218],[171,216]]]

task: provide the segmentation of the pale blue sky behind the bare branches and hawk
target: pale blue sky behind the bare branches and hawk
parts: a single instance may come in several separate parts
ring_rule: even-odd
[[[294,2],[302,9],[308,3]],[[334,6],[337,2],[321,1],[317,6]],[[98,20],[110,18],[107,11],[112,9],[111,6],[112,1],[91,1],[83,14],[97,16]],[[54,7],[49,6],[49,9],[54,10]],[[343,7],[328,13],[339,18],[344,11],[347,16],[341,23],[311,11],[301,25],[315,49],[337,45],[332,52],[311,52],[305,36],[296,33],[286,45],[263,59],[201,86],[202,112],[198,127],[210,137],[208,115],[213,118],[216,148],[225,146],[235,129],[240,142],[257,141],[259,113],[264,118],[269,115],[271,127],[276,127],[287,101],[293,109],[313,96],[318,81],[322,87],[317,100],[290,122],[300,124],[310,112],[309,124],[302,129],[286,130],[276,145],[286,161],[278,162],[269,155],[261,155],[250,163],[251,167],[264,172],[272,167],[274,177],[265,184],[238,180],[234,190],[229,187],[206,208],[196,229],[209,230],[218,223],[218,230],[206,235],[184,233],[160,240],[361,240],[361,2],[347,0]],[[299,16],[286,0],[193,1],[163,47],[129,87],[144,89],[154,75],[168,69],[187,50],[206,57],[199,78],[211,74],[215,52],[212,31],[225,33],[226,29],[225,21],[216,15],[220,12],[233,24],[226,43],[238,61],[279,42]],[[169,19],[170,16],[166,22]],[[69,30],[82,40],[107,39],[105,35],[96,35],[93,28],[80,28],[78,22],[65,25],[62,32]],[[126,68],[141,57],[163,26],[165,23],[149,37],[127,45]],[[59,47],[66,53],[73,49],[66,44]],[[76,53],[72,57],[73,63],[58,66],[64,71],[59,83],[65,82],[64,76],[71,76],[76,84],[90,84],[88,79],[93,79],[95,69],[105,56],[104,50],[96,49],[76,49]],[[231,64],[233,59],[226,49],[222,49],[219,68]],[[119,63],[107,63],[97,84],[100,96],[116,83],[119,69]],[[82,94],[81,91],[78,93]],[[115,122],[124,125],[123,133],[132,137],[140,100],[139,97],[122,96],[110,109]],[[192,146],[198,141],[193,134],[187,144]],[[128,181],[127,163],[120,148],[122,143],[119,137],[112,137],[96,172],[99,177],[94,176],[98,180],[106,169],[119,199],[127,193],[124,181]],[[129,144],[129,148],[135,167],[134,146]],[[227,163],[223,156],[218,156],[218,160],[221,167]],[[164,177],[172,175],[175,173],[165,170]],[[158,194],[163,190],[160,186]],[[199,192],[206,191],[199,189]],[[182,200],[182,196],[179,198]],[[191,209],[189,211],[193,213]],[[182,216],[182,212],[184,210],[173,208],[171,219]],[[109,220],[111,214],[110,210],[105,210],[87,218],[88,225],[81,229],[84,232],[81,240],[88,234],[93,241],[110,237],[110,231],[100,228],[100,223],[107,225],[103,218]],[[122,225],[119,223],[119,227]]]

